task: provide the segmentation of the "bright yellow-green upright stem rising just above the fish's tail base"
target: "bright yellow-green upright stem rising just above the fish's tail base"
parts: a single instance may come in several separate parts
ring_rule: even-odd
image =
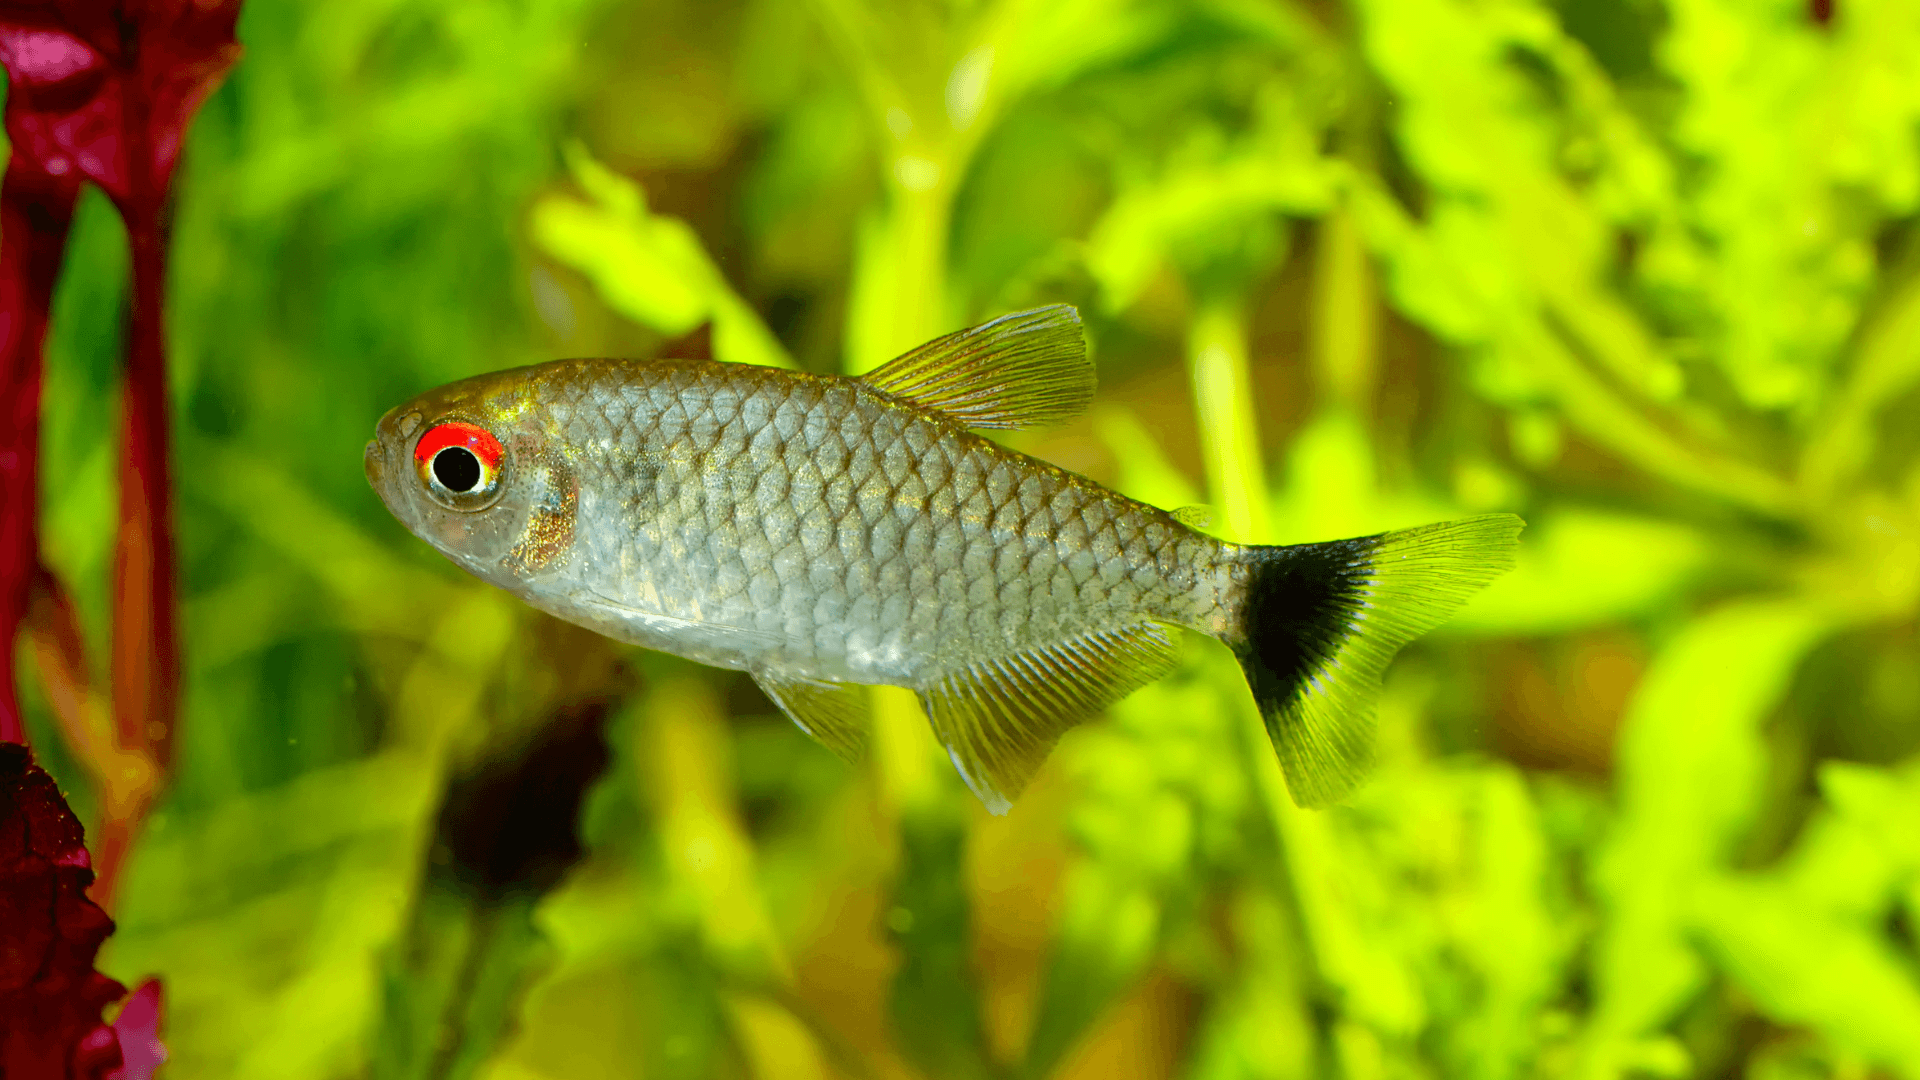
[[[1238,298],[1202,302],[1187,331],[1187,375],[1200,413],[1200,454],[1227,536],[1244,544],[1269,532],[1267,477],[1246,365],[1246,311]]]

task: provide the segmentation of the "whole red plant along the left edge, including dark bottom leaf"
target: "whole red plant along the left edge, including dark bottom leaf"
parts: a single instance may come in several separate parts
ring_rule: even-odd
[[[240,54],[238,0],[0,0],[12,156],[0,183],[0,1074],[150,1074],[157,984],[123,1022],[144,1028],[121,1065],[100,1009],[125,994],[92,969],[113,924],[79,822],[23,746],[15,638],[35,640],[48,700],[102,786],[96,836],[109,903],[173,757],[179,709],[173,469],[167,432],[167,194],[200,102]],[[132,304],[113,557],[111,730],[94,730],[73,603],[40,559],[42,346],[83,183],[127,223]],[[17,1022],[15,1022],[17,1020]],[[31,1022],[29,1022],[31,1020]]]

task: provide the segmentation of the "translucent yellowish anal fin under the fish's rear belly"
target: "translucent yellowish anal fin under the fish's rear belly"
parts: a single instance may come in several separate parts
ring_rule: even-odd
[[[1164,678],[1177,659],[1167,628],[1140,623],[970,663],[920,701],[966,786],[1006,813],[1068,728]]]

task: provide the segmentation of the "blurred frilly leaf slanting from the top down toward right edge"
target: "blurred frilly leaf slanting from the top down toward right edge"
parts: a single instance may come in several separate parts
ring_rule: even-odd
[[[1542,4],[1363,12],[1398,142],[1428,184],[1415,223],[1377,181],[1350,181],[1394,302],[1463,348],[1494,402],[1553,405],[1651,475],[1786,513],[1786,484],[1678,404],[1670,348],[1617,286],[1622,229],[1684,231],[1672,165],[1586,50]]]

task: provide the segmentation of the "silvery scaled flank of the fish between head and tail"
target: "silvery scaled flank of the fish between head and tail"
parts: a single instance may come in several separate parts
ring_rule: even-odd
[[[564,405],[545,434],[582,494],[576,557],[549,575],[547,609],[568,603],[561,580],[588,598],[657,596],[659,615],[745,632],[710,663],[916,684],[983,642],[1012,653],[1219,607],[1192,573],[1162,580],[1217,542],[939,415],[849,380],[710,361],[632,375],[563,361],[524,390],[532,409]],[[968,650],[943,648],[954,623]]]

